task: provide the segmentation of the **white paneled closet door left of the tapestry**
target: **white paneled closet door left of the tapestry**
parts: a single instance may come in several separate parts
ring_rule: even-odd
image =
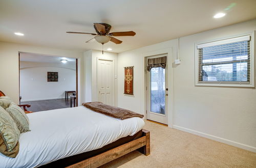
[[[98,101],[113,104],[113,61],[98,60],[97,88]]]

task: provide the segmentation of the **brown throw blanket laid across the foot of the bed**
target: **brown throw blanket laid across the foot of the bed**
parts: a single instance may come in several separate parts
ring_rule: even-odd
[[[87,107],[97,113],[101,113],[103,115],[106,116],[110,116],[116,119],[129,119],[132,117],[139,117],[139,118],[143,118],[143,115],[140,115],[138,113],[135,113],[133,111],[127,110],[127,109],[123,109],[123,108],[119,108],[119,107],[114,107],[111,105],[106,105],[103,104],[101,102],[89,102],[89,103],[82,103],[82,105],[84,107]]]

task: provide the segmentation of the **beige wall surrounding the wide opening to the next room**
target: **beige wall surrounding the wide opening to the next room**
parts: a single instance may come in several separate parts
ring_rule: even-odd
[[[0,90],[10,96],[16,103],[19,101],[19,62],[18,52],[32,52],[58,57],[78,59],[78,93],[83,93],[83,54],[71,50],[22,45],[0,42]],[[78,103],[83,101],[83,95],[78,94]]]

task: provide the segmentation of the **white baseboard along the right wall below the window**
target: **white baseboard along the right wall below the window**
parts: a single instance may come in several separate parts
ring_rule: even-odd
[[[181,131],[193,133],[193,134],[196,134],[196,135],[199,135],[199,136],[203,136],[203,137],[212,139],[214,141],[218,141],[218,142],[221,142],[221,143],[224,143],[224,144],[228,144],[228,145],[231,145],[231,146],[242,148],[242,149],[245,149],[245,150],[248,150],[248,151],[256,152],[256,147],[252,147],[252,146],[249,146],[249,145],[245,145],[245,144],[241,144],[241,143],[238,143],[238,142],[230,141],[229,139],[225,139],[225,138],[222,138],[222,137],[218,137],[218,136],[210,135],[210,134],[207,134],[207,133],[195,131],[195,130],[192,130],[192,129],[180,127],[180,126],[177,126],[177,125],[173,125],[173,128],[181,130]]]

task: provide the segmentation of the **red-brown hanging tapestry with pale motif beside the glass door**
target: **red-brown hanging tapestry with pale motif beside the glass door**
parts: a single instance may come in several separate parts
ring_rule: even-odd
[[[124,67],[124,94],[133,95],[133,68]]]

